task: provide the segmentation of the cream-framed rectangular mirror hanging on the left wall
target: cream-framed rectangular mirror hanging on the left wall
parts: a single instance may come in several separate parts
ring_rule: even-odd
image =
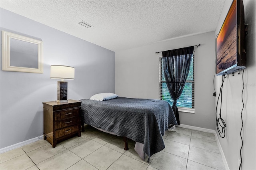
[[[2,31],[2,70],[43,73],[43,42]]]

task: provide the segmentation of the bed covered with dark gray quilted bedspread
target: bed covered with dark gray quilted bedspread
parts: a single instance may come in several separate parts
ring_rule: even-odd
[[[164,131],[177,125],[172,107],[162,100],[116,97],[80,101],[82,125],[134,140],[134,149],[143,160],[147,157],[148,162],[150,156],[164,149]]]

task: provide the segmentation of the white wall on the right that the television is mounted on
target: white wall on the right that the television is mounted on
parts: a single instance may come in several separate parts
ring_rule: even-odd
[[[256,1],[244,0],[245,23],[249,25],[248,35],[246,36],[246,58],[247,67],[244,70],[244,94],[245,103],[242,118],[244,128],[242,137],[244,146],[242,149],[242,169],[256,169]],[[226,1],[215,35],[218,34],[222,23],[226,17],[232,1]],[[240,71],[241,73],[241,71]],[[219,94],[222,76],[216,76],[216,88]],[[230,170],[238,169],[238,159],[240,159],[240,148],[242,141],[240,130],[242,127],[242,73],[232,77],[228,75],[222,91],[222,119],[226,122],[226,137],[220,138],[220,144],[225,154]],[[217,130],[216,130],[217,132]],[[217,132],[218,133],[218,132]]]

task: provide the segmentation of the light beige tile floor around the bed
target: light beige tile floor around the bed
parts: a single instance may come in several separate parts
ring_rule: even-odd
[[[46,140],[0,154],[1,170],[223,170],[222,156],[214,134],[176,127],[163,136],[166,148],[150,163],[140,159],[135,142],[85,125],[81,137],[52,148]]]

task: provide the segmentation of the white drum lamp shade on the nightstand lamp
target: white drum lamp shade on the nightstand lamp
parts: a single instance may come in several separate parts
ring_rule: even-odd
[[[51,65],[50,67],[51,79],[75,79],[75,68],[66,65]]]

